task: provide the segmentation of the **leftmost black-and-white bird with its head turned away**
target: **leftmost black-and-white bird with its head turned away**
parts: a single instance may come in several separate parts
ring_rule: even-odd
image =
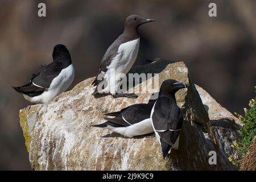
[[[75,70],[68,49],[58,44],[53,48],[53,62],[32,75],[28,84],[13,88],[26,100],[42,104],[64,92],[72,84]]]

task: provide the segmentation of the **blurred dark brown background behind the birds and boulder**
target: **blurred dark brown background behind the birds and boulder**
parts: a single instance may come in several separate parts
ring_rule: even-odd
[[[38,3],[46,3],[46,18]],[[217,17],[208,16],[210,2]],[[183,60],[193,82],[229,111],[242,113],[256,85],[256,1],[0,1],[0,169],[31,169],[19,126],[19,109],[30,105],[20,86],[52,61],[55,44],[71,52],[72,86],[95,76],[106,49],[123,31],[126,16],[156,19],[139,28],[135,64],[163,57]]]

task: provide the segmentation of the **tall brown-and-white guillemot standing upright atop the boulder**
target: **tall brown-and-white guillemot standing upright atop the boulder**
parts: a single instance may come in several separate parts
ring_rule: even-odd
[[[154,19],[146,19],[139,15],[130,15],[125,21],[125,30],[107,49],[102,58],[100,71],[92,85],[96,86],[93,95],[110,93],[114,98],[137,98],[135,94],[118,93],[118,83],[133,66],[139,52],[138,27]],[[101,84],[100,84],[101,83]],[[102,84],[104,83],[104,86]]]

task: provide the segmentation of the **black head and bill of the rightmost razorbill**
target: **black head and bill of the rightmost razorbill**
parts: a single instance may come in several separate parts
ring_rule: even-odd
[[[188,87],[188,85],[185,84],[184,82],[179,82],[179,81],[172,80],[172,79],[165,80],[163,82],[163,84],[161,85],[160,94],[175,96],[175,93],[178,90],[184,89],[187,87]]]

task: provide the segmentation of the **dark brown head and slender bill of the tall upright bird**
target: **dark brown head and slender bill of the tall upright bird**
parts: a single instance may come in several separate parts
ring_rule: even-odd
[[[139,26],[145,23],[154,22],[154,19],[146,19],[139,15],[130,15],[125,20],[125,30],[137,30]]]

